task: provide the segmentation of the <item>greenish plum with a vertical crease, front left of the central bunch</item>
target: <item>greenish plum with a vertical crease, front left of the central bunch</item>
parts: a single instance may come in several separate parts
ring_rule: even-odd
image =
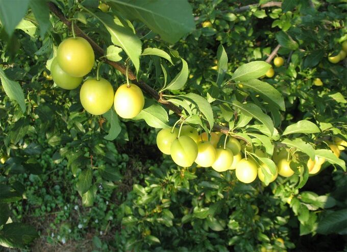
[[[179,166],[191,166],[197,157],[197,145],[189,138],[182,135],[171,144],[170,152],[172,160]]]

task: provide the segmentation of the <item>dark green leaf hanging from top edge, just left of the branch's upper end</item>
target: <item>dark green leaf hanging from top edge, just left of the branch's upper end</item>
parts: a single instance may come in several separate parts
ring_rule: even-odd
[[[34,12],[35,19],[39,23],[40,36],[43,38],[51,22],[49,21],[49,9],[46,0],[30,0],[30,8]]]

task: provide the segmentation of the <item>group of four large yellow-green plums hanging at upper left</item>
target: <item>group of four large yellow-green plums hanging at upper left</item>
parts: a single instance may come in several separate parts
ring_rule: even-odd
[[[51,64],[51,74],[57,86],[75,89],[94,66],[94,51],[82,37],[67,38],[59,44],[57,57]],[[126,119],[136,117],[144,105],[141,89],[132,83],[122,84],[114,94],[113,87],[104,78],[89,78],[81,86],[83,108],[94,115],[107,112],[114,104],[117,114]]]

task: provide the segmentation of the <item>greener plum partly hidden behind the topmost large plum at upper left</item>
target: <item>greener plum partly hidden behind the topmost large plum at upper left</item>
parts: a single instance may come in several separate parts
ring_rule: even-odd
[[[56,83],[57,86],[68,90],[77,88],[83,80],[83,77],[73,77],[65,73],[59,66],[57,58],[54,58],[52,61],[51,73],[54,83]]]

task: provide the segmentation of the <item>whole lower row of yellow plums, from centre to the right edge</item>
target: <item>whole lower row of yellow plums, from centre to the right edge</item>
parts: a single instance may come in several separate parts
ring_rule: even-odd
[[[262,182],[265,182],[263,170],[271,175],[269,182],[274,181],[278,175],[290,177],[294,174],[290,168],[291,159],[286,149],[274,151],[272,160],[276,164],[276,173],[272,174],[266,164],[258,165],[251,152],[247,151],[249,156],[242,158],[241,143],[237,139],[230,136],[224,146],[217,147],[219,138],[219,132],[211,132],[208,140],[206,132],[199,135],[195,128],[184,125],[180,130],[176,127],[160,130],[156,142],[159,150],[171,155],[172,160],[179,166],[190,167],[195,162],[199,167],[212,167],[218,172],[235,170],[237,179],[244,183],[253,182],[257,175]],[[336,139],[335,144],[329,145],[337,157],[340,155],[340,150],[344,149],[343,146],[347,146],[347,143],[341,139]],[[259,157],[266,157],[259,148],[256,148],[254,153]],[[309,174],[318,173],[324,162],[325,159],[321,157],[316,157],[314,161],[309,159],[307,162]]]

